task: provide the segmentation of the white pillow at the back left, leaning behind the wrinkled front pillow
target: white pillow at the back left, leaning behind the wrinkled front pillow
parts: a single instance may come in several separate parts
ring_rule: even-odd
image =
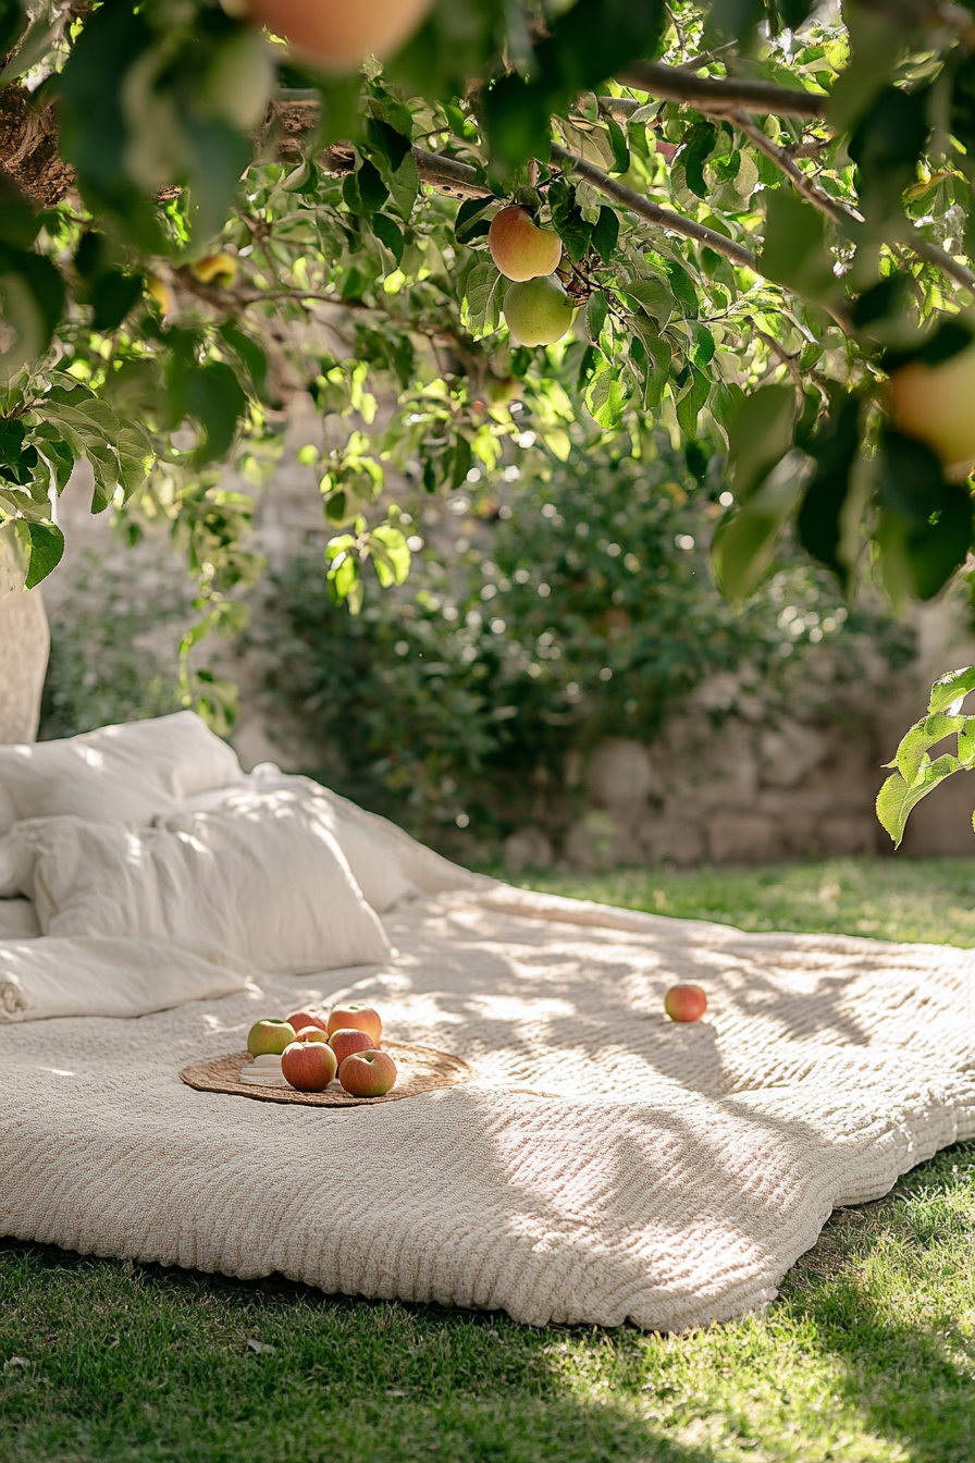
[[[18,819],[61,813],[148,824],[243,775],[234,749],[194,711],[99,727],[64,742],[0,746],[0,834]]]

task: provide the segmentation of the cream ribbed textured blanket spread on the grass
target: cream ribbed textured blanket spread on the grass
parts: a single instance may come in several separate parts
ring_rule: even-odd
[[[762,1306],[836,1204],[975,1134],[975,955],[743,935],[504,887],[386,917],[384,967],[139,1020],[0,1027],[0,1232],[516,1320]],[[348,977],[345,977],[348,979]],[[662,996],[696,980],[707,1018]],[[379,1107],[178,1081],[257,1014],[355,990],[475,1067]]]

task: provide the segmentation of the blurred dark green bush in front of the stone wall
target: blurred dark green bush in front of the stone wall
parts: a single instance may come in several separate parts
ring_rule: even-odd
[[[411,578],[360,616],[329,601],[311,553],[270,606],[268,686],[317,749],[308,771],[441,847],[456,828],[487,843],[526,818],[557,830],[570,755],[610,734],[653,740],[716,672],[747,663],[773,683],[845,622],[911,654],[883,617],[848,620],[807,565],[735,614],[693,537],[722,508],[669,458],[579,454],[550,481],[501,490],[507,502],[474,490],[412,505],[427,541]]]

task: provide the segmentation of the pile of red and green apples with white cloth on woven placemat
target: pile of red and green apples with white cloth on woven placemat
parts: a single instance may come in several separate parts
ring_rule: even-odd
[[[371,1007],[338,1005],[327,1017],[295,1011],[285,1021],[266,1017],[247,1034],[254,1061],[241,1078],[323,1093],[338,1077],[351,1097],[382,1097],[396,1083],[396,1064],[379,1048],[382,1034],[382,1017]]]

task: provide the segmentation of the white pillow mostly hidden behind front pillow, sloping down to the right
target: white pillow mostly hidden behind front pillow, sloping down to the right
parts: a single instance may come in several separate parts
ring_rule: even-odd
[[[276,793],[282,805],[301,806],[307,818],[327,830],[348,859],[365,901],[379,914],[384,914],[409,894],[439,894],[443,890],[471,888],[479,882],[478,875],[417,843],[396,824],[357,808],[308,777],[282,772],[273,762],[262,762],[237,787],[202,793],[190,806],[227,811],[244,808],[254,791]]]

